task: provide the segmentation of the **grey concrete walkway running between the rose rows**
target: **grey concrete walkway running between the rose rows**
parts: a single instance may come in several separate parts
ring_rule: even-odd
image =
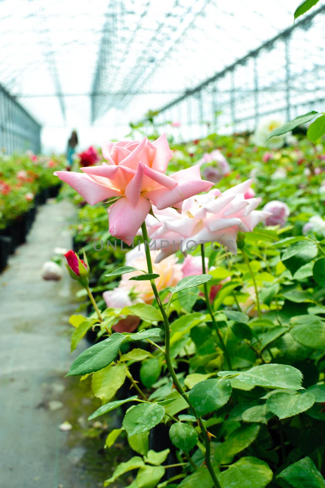
[[[113,469],[102,428],[86,421],[99,406],[89,381],[63,379],[86,346],[70,354],[75,283],[66,272],[59,282],[40,275],[55,247],[71,247],[67,223],[74,213],[67,202],[40,207],[27,244],[0,275],[1,488],[101,487]],[[72,430],[61,431],[63,421]]]

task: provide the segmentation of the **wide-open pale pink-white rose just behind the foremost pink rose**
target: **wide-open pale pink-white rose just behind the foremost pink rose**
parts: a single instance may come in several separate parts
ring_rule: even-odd
[[[202,242],[218,242],[232,253],[237,253],[237,234],[251,232],[269,212],[255,210],[259,198],[245,200],[244,194],[252,180],[240,183],[221,193],[210,190],[205,195],[197,195],[183,202],[182,213],[172,208],[153,208],[157,219],[148,215],[146,224],[148,235],[156,241],[161,253],[156,261],[176,252],[200,245]]]

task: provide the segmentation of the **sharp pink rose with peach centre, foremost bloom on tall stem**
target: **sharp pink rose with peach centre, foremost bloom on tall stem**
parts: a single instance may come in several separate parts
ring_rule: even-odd
[[[109,207],[109,232],[131,244],[151,208],[175,206],[197,193],[211,188],[203,181],[199,165],[166,176],[172,157],[166,135],[150,142],[105,142],[102,166],[81,168],[83,173],[56,171],[90,205],[112,197],[119,198]]]

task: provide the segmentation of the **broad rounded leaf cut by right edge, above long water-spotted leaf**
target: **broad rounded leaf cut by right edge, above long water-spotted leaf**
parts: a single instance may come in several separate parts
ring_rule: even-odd
[[[301,317],[305,317],[305,319],[290,330],[292,337],[303,346],[323,349],[325,347],[325,322],[316,315],[302,315]]]

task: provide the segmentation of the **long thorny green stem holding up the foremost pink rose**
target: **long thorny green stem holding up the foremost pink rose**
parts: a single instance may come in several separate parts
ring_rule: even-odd
[[[146,228],[145,222],[143,222],[141,229],[142,229],[142,236],[143,236],[143,242],[144,242],[145,257],[146,257],[147,266],[148,266],[148,273],[152,273],[153,269],[152,269],[152,263],[151,263],[150,248],[147,245],[147,243],[149,242],[149,238],[148,238],[148,233],[147,233],[147,228]],[[170,358],[170,328],[169,328],[169,321],[168,321],[168,317],[167,317],[165,308],[164,308],[162,301],[160,299],[159,292],[157,290],[157,286],[156,286],[154,280],[150,280],[150,284],[151,284],[152,290],[154,292],[158,306],[159,306],[160,311],[162,312],[162,316],[163,316],[163,324],[164,324],[164,329],[165,329],[165,352],[164,352],[164,356],[165,356],[166,366],[168,368],[170,376],[172,377],[172,380],[174,382],[174,385],[175,385],[177,391],[183,396],[183,398],[186,400],[189,407],[192,408],[190,401],[189,401],[189,398],[186,395],[186,393],[183,389],[183,386],[179,382],[179,380],[176,376],[175,369],[174,369],[172,362],[171,362],[171,358]],[[219,481],[217,480],[216,474],[215,474],[215,472],[212,468],[212,464],[211,464],[210,439],[208,438],[207,431],[203,425],[203,421],[202,421],[201,417],[198,417],[197,420],[199,422],[199,425],[201,427],[201,430],[202,430],[203,436],[204,436],[204,440],[205,440],[205,463],[206,463],[206,467],[209,470],[210,476],[211,476],[213,483],[214,483],[214,487],[215,488],[221,488],[221,485],[220,485]]]

